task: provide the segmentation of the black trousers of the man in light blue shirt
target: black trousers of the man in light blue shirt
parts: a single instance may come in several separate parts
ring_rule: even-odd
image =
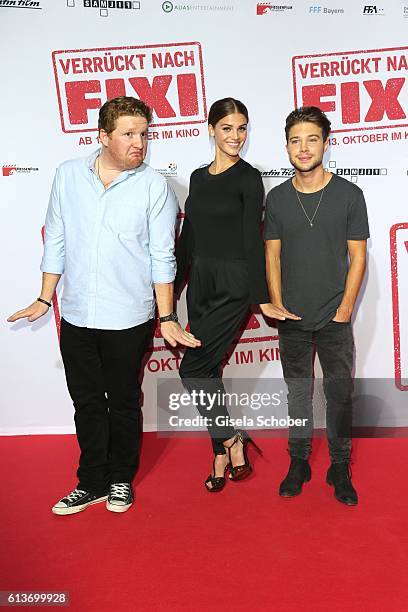
[[[139,382],[153,320],[101,330],[61,322],[61,355],[81,449],[78,488],[103,493],[130,482],[142,433]]]

